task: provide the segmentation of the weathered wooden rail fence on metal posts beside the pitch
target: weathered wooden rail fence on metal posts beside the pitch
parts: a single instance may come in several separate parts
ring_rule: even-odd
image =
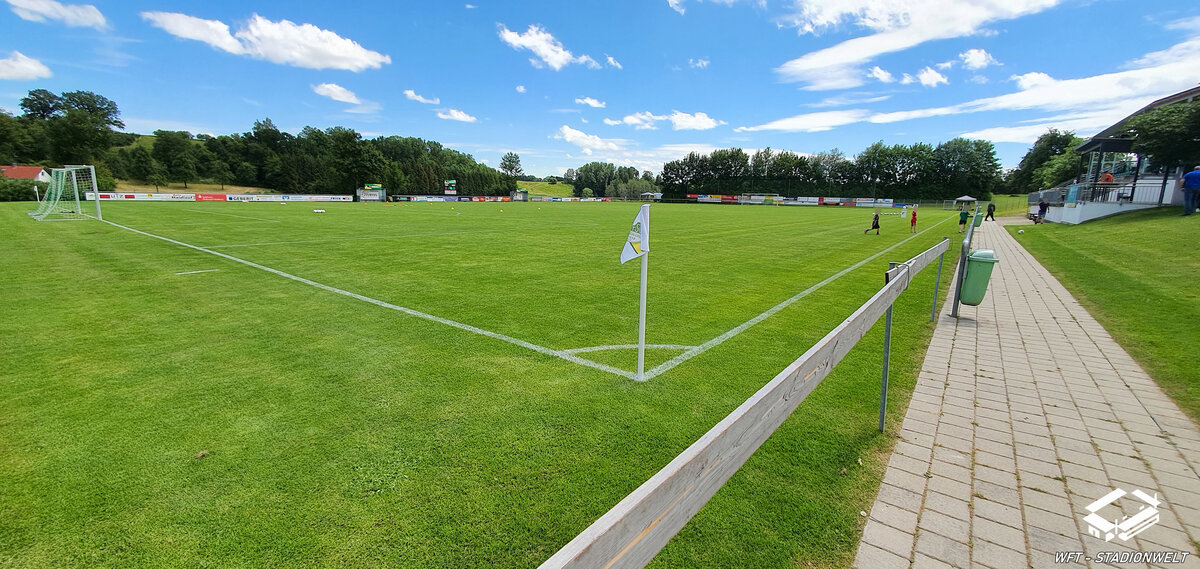
[[[890,312],[913,276],[949,248],[949,239],[904,263],[892,263],[886,284],[850,317],[779,372],[649,480],[622,499],[540,565],[540,569],[646,567],[742,468],[850,351],[888,315],[881,382],[880,429],[887,405]],[[934,291],[934,306],[937,291]]]

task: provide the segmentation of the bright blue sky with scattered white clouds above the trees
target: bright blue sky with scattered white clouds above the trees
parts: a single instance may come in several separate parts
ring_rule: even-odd
[[[1200,83],[1200,5],[1109,0],[0,0],[0,108],[90,90],[127,131],[348,126],[527,173],[688,151],[1088,136]]]

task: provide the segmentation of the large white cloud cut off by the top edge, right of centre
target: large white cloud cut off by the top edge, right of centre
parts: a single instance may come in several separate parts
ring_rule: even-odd
[[[786,82],[805,83],[805,90],[848,89],[863,84],[858,67],[878,55],[902,52],[932,40],[978,34],[992,22],[1040,12],[1060,0],[798,0],[787,18],[802,34],[851,24],[874,34],[809,52],[779,66]]]

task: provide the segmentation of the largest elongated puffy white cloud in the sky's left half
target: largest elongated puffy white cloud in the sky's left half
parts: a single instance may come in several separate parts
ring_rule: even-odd
[[[391,58],[312,24],[271,22],[254,14],[235,34],[223,22],[174,12],[142,12],[142,18],[170,35],[254,59],[311,70],[362,71],[390,64]]]

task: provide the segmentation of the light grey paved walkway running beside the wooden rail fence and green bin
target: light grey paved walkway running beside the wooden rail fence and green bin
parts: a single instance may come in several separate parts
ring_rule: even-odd
[[[998,223],[974,247],[1000,264],[980,306],[946,303],[854,567],[1200,568],[1196,425]],[[1160,520],[1105,543],[1084,517],[1117,487],[1157,492]],[[1092,561],[1055,563],[1069,551]],[[1190,555],[1094,561],[1110,551]]]

